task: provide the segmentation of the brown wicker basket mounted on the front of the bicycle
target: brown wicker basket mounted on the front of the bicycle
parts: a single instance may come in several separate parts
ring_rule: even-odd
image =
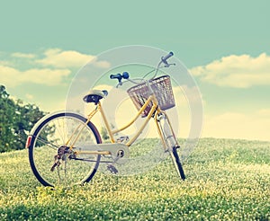
[[[158,105],[161,110],[175,107],[175,98],[169,75],[159,76],[150,81],[149,84],[157,97]],[[137,110],[144,105],[150,94],[148,86],[145,83],[131,87],[128,90],[128,93]],[[151,110],[152,105],[152,102],[150,102],[146,110],[141,113],[142,117],[148,116],[148,112]]]

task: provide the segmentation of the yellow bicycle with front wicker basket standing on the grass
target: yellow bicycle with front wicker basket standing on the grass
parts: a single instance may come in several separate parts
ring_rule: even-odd
[[[165,111],[175,106],[170,76],[157,77],[161,65],[173,65],[167,63],[167,59],[173,55],[173,52],[170,52],[161,57],[157,67],[139,79],[130,79],[127,72],[110,75],[111,79],[118,80],[117,86],[127,81],[135,84],[127,92],[138,112],[134,119],[122,128],[112,129],[106,119],[101,102],[108,95],[105,90],[91,90],[85,95],[85,102],[94,103],[94,110],[87,117],[76,112],[60,111],[40,119],[31,129],[26,141],[31,170],[37,180],[49,187],[58,184],[84,184],[92,180],[99,164],[107,164],[110,172],[117,173],[115,164],[122,164],[129,158],[129,147],[137,140],[150,119],[155,121],[164,151],[171,156],[178,176],[185,180],[183,166],[177,153],[180,146]],[[155,75],[147,80],[146,77],[153,72]],[[97,112],[101,113],[110,137],[109,144],[103,144],[97,128],[91,121]],[[139,117],[145,118],[145,121],[133,137],[125,142],[122,142],[125,137],[114,138]]]

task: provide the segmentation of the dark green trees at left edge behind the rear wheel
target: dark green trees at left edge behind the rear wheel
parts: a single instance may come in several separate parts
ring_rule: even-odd
[[[0,153],[23,149],[27,133],[44,114],[36,105],[14,101],[0,85]]]

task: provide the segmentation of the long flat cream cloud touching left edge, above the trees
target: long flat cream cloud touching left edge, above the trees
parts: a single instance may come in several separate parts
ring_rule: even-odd
[[[10,66],[0,66],[1,84],[14,87],[24,83],[57,85],[71,72],[67,69],[29,69],[20,71]]]

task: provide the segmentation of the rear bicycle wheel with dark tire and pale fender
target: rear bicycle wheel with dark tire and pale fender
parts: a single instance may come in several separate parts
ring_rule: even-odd
[[[78,125],[83,127],[81,130],[82,134],[80,134],[76,142],[102,143],[100,134],[94,124],[88,122],[85,126],[85,122],[85,117],[77,113],[58,112],[40,119],[32,128],[29,161],[31,171],[43,186],[55,187],[56,185],[84,184],[91,181],[94,177],[100,162],[100,155],[90,156],[93,158],[92,163],[66,159],[65,161],[63,160],[63,164],[57,166],[57,172],[50,171],[51,166],[54,164],[54,157],[58,154],[58,147],[67,142],[67,137],[68,134],[71,134],[72,127],[77,127]],[[49,156],[49,158],[44,156]]]

